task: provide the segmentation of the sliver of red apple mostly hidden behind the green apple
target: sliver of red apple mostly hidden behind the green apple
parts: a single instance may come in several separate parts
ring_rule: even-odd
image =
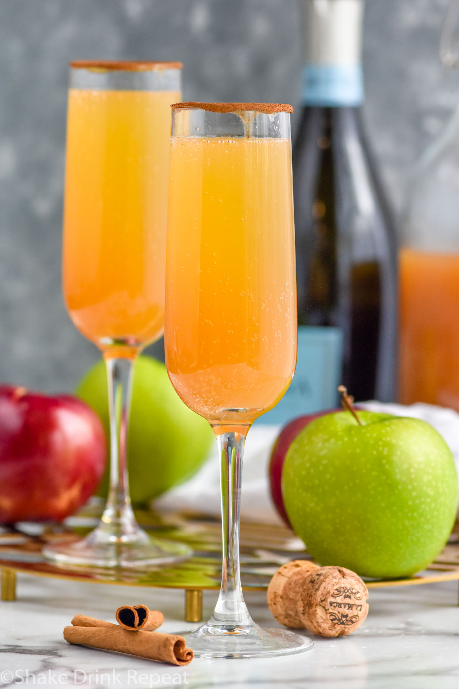
[[[288,519],[286,508],[284,507],[284,499],[281,490],[282,468],[288,448],[297,437],[299,431],[302,431],[304,426],[307,426],[314,419],[325,414],[331,414],[334,411],[343,411],[342,409],[326,409],[325,411],[317,411],[314,414],[306,414],[299,416],[297,419],[290,421],[279,433],[277,440],[271,451],[271,458],[269,462],[269,484],[271,490],[271,497],[273,502],[281,515],[282,519],[291,528]]]

